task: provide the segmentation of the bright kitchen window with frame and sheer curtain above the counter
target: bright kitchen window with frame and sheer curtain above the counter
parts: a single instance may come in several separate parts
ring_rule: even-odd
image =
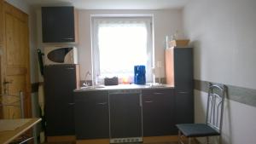
[[[94,79],[133,83],[134,66],[144,65],[152,82],[152,17],[92,16],[91,22]]]

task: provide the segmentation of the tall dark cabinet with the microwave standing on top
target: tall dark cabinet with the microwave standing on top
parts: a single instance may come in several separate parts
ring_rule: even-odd
[[[47,136],[74,135],[73,89],[78,87],[78,65],[44,66]]]

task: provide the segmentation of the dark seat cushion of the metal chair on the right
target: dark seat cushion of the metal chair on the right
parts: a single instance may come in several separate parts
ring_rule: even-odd
[[[176,124],[176,126],[187,137],[219,135],[218,131],[207,124]]]

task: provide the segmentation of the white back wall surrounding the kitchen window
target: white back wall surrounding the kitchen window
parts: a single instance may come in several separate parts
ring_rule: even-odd
[[[79,64],[81,79],[85,72],[91,71],[90,47],[90,14],[154,14],[154,49],[155,63],[161,61],[162,67],[157,70],[156,77],[165,77],[164,48],[166,35],[180,32],[178,37],[183,37],[182,10],[79,10]],[[90,79],[90,78],[89,78]]]

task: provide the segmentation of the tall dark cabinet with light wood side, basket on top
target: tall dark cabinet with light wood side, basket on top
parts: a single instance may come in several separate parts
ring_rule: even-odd
[[[193,49],[166,49],[166,82],[174,85],[176,124],[194,123]]]

